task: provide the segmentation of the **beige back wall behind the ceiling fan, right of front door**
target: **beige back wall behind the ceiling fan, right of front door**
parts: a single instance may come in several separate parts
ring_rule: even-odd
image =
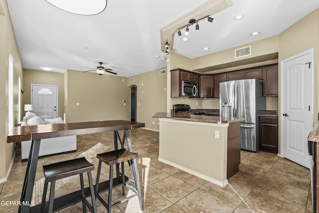
[[[123,103],[131,99],[126,77],[68,70],[66,81],[67,123],[131,120],[131,104]]]

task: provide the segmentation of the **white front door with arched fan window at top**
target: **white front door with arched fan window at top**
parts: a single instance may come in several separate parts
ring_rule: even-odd
[[[38,116],[56,118],[58,113],[58,87],[31,84],[31,104]]]

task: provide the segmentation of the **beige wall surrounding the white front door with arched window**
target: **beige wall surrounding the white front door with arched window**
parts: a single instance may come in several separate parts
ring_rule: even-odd
[[[64,112],[64,74],[57,72],[47,72],[32,69],[23,69],[22,87],[25,89],[22,95],[22,106],[31,103],[31,84],[43,84],[58,86],[58,117],[63,118]],[[25,112],[21,113],[24,116]],[[21,118],[22,119],[22,118]]]

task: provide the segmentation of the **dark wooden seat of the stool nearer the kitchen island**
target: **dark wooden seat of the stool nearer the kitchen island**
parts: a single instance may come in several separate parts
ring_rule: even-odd
[[[139,154],[130,152],[126,149],[119,149],[111,152],[97,154],[96,157],[110,166],[113,164],[119,164],[125,161],[133,160],[139,157]]]

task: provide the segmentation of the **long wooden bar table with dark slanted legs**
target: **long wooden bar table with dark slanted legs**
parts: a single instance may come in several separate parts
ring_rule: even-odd
[[[124,120],[112,120],[112,121],[93,121],[93,122],[79,122],[79,123],[67,123],[67,124],[46,124],[37,126],[25,126],[25,127],[13,127],[7,136],[7,143],[32,141],[30,154],[27,161],[25,177],[21,193],[21,205],[18,212],[29,213],[39,212],[40,205],[30,207],[33,185],[35,179],[35,172],[37,161],[39,157],[39,148],[41,139],[55,138],[70,135],[84,135],[92,133],[110,132],[113,131],[114,137],[114,149],[118,149],[118,141],[121,144],[121,148],[124,148],[125,141],[127,142],[128,150],[133,152],[131,139],[129,135],[129,129],[136,129],[145,127],[145,123],[124,121]],[[118,130],[124,130],[123,139],[120,138]],[[137,170],[136,159],[134,159],[134,167]],[[138,176],[138,173],[137,173]],[[126,179],[127,181],[127,179]],[[101,186],[100,186],[101,185]],[[136,188],[139,191],[140,208],[143,210],[142,196],[139,183],[139,177],[137,177]],[[98,191],[108,190],[108,181],[99,184]],[[86,197],[89,197],[89,189],[85,190]],[[78,196],[78,194],[80,196]],[[53,211],[61,210],[65,207],[78,203],[81,197],[81,191],[77,191],[60,198],[55,199]]]

